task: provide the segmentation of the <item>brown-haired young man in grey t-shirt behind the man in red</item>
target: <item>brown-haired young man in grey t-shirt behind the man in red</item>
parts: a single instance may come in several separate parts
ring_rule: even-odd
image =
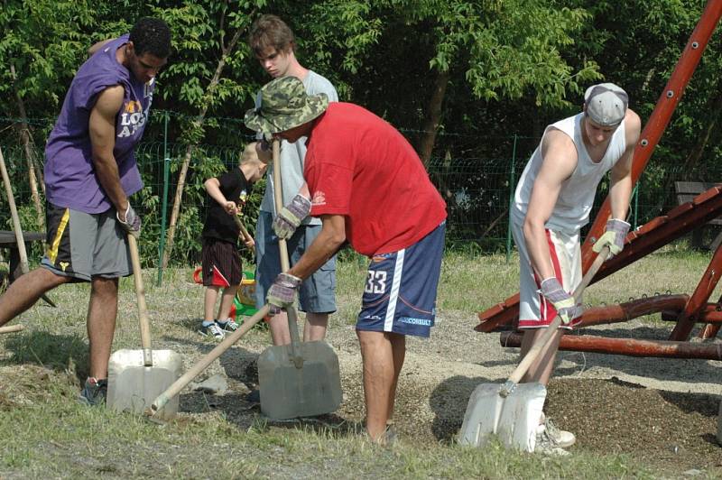
[[[255,58],[273,78],[292,76],[299,78],[306,93],[325,94],[329,101],[338,101],[336,88],[328,79],[301,66],[296,59],[296,42],[289,26],[275,15],[263,15],[251,27],[248,40]],[[268,150],[260,148],[259,157],[264,162],[271,160]],[[281,272],[281,254],[278,247],[278,235],[288,240],[291,264],[301,258],[316,236],[319,235],[321,222],[309,217],[310,201],[299,194],[303,180],[303,165],[306,158],[306,139],[299,142],[281,143],[281,178],[283,205],[276,214],[273,201],[273,176],[268,175],[264,199],[261,203],[258,224],[255,229],[256,244],[256,305],[261,308],[266,293],[273,280]],[[275,222],[275,226],[273,226]],[[274,233],[274,229],[279,234]],[[293,232],[292,230],[295,229]],[[289,232],[292,232],[290,234]],[[301,311],[306,313],[303,328],[304,341],[322,340],[326,336],[329,314],[336,311],[336,256],[332,256],[299,290]],[[291,343],[288,319],[285,312],[269,321],[274,345]]]

